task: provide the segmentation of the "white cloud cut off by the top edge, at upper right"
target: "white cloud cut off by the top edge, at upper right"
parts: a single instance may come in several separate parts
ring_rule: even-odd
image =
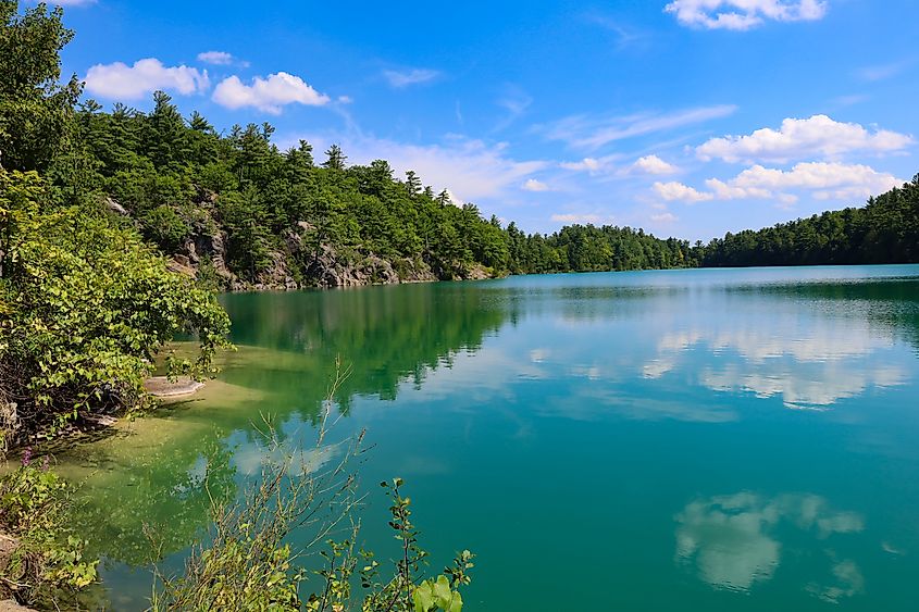
[[[665,11],[687,26],[747,30],[767,20],[803,22],[823,18],[829,2],[821,0],[674,0]]]

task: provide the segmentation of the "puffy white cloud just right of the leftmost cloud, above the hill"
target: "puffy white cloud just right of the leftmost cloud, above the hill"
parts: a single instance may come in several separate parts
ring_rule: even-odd
[[[213,100],[228,109],[254,107],[266,113],[280,114],[287,104],[322,107],[328,103],[330,98],[299,76],[280,72],[268,78],[257,76],[251,85],[245,85],[238,76],[225,78],[214,88]]]

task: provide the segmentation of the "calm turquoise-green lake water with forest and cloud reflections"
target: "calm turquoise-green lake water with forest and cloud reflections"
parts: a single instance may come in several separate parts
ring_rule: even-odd
[[[336,355],[336,435],[408,482],[467,609],[919,609],[919,266],[516,277],[224,298],[239,351],[199,399],[62,470],[119,610],[149,595],[141,522],[181,564],[202,475],[234,490],[274,414],[310,439]]]

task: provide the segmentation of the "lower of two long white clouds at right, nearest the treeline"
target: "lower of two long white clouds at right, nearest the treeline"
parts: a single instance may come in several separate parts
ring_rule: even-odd
[[[792,191],[809,191],[818,200],[867,199],[883,193],[904,182],[889,173],[861,164],[805,162],[791,170],[755,165],[730,180],[709,178],[708,191],[699,191],[682,183],[656,183],[658,196],[667,201],[703,202],[708,200],[774,199],[793,203]]]

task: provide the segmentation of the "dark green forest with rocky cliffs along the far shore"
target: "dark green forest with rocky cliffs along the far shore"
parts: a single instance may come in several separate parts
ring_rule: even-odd
[[[73,129],[78,146],[54,171],[59,187],[133,220],[174,267],[218,289],[919,261],[919,176],[864,208],[691,246],[631,227],[501,227],[412,171],[398,178],[384,160],[349,165],[337,145],[316,163],[309,142],[281,151],[268,123],[218,133],[198,113],[183,117],[164,92],[149,113],[83,102]]]

